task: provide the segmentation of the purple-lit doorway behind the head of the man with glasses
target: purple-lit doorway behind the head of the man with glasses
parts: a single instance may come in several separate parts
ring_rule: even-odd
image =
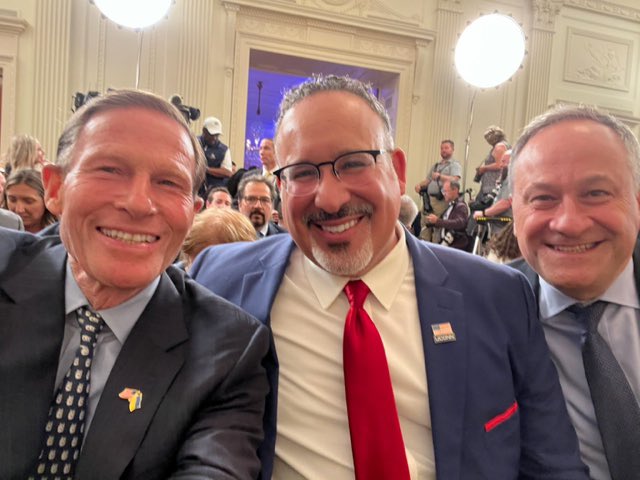
[[[262,138],[273,138],[282,94],[313,74],[349,75],[371,84],[383,103],[395,130],[398,111],[397,72],[331,63],[310,58],[251,49],[247,85],[244,168],[261,167],[258,145]]]

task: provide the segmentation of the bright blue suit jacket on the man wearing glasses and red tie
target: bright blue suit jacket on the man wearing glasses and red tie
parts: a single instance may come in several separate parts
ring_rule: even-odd
[[[587,479],[525,278],[411,235],[406,241],[416,277],[437,477]],[[191,273],[268,325],[293,248],[289,235],[216,246],[200,254]],[[436,344],[431,325],[444,322],[456,341]],[[273,344],[267,370],[272,390],[260,450],[263,478],[270,478],[276,436]],[[514,402],[517,410],[509,414]],[[492,419],[498,425],[487,428]]]

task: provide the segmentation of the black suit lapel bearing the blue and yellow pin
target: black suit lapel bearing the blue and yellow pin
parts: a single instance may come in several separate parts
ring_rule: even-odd
[[[182,367],[187,339],[182,300],[165,273],[109,375],[85,439],[78,478],[122,476]],[[128,402],[118,397],[124,388],[142,391],[140,409],[129,412]]]

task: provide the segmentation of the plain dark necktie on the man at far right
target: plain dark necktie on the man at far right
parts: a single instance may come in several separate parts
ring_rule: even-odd
[[[611,348],[598,333],[606,306],[598,301],[569,310],[587,327],[582,360],[611,477],[640,479],[640,407]]]

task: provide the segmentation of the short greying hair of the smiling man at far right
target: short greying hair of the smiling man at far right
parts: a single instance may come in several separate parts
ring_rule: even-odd
[[[609,128],[620,138],[620,140],[622,140],[622,143],[628,153],[627,162],[633,172],[634,185],[636,190],[640,190],[640,145],[638,144],[638,139],[629,127],[614,116],[601,112],[595,107],[585,105],[561,105],[554,107],[534,118],[531,123],[524,128],[522,135],[511,152],[511,164],[509,166],[509,171],[511,172],[509,175],[510,186],[513,187],[516,165],[518,163],[520,152],[529,140],[540,133],[541,130],[551,125],[571,120],[591,120],[599,123]],[[568,146],[568,148],[571,147]]]

